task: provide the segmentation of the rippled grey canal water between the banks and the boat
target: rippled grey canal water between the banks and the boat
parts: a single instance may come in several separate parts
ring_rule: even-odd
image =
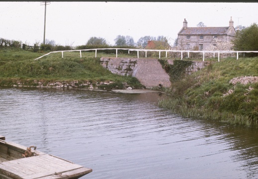
[[[159,93],[0,89],[6,141],[93,169],[82,179],[257,179],[258,130],[182,118]]]

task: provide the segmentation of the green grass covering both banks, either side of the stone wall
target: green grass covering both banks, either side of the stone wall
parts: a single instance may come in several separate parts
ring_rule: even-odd
[[[115,53],[97,52],[95,58],[95,52],[82,52],[80,58],[80,52],[64,52],[62,58],[62,53],[58,52],[34,60],[44,54],[0,48],[0,86],[36,86],[39,82],[46,85],[57,81],[77,81],[79,85],[87,82],[94,87],[100,82],[113,82],[110,85],[98,85],[100,89],[121,89],[122,83],[143,88],[136,78],[112,74],[100,65],[100,57],[115,57]],[[145,58],[144,54],[141,55]],[[137,58],[137,53],[119,53],[118,57]],[[216,58],[209,60],[217,61]],[[163,89],[171,97],[160,101],[159,105],[186,117],[258,127],[258,83],[230,83],[231,79],[242,76],[258,76],[258,57],[239,60],[235,57],[221,58],[219,63],[210,63],[181,80],[172,79],[172,87]],[[229,90],[234,92],[224,95]]]

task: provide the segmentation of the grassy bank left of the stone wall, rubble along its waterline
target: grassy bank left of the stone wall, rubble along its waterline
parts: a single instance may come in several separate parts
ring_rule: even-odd
[[[64,58],[61,53],[54,53],[34,60],[42,55],[19,48],[1,48],[0,86],[47,86],[59,82],[80,88],[122,89],[124,83],[143,88],[134,77],[118,76],[104,69],[99,63],[100,56],[94,58],[95,53],[83,53],[83,58],[79,52],[66,53]]]

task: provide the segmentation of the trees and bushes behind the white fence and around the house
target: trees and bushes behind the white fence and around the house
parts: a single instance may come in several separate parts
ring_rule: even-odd
[[[203,22],[197,24],[198,27],[205,27]],[[256,23],[251,24],[248,27],[237,26],[236,38],[232,42],[217,42],[216,46],[211,46],[210,50],[238,50],[238,51],[258,51],[258,25]],[[61,51],[61,50],[73,50],[73,49],[90,49],[90,48],[139,48],[144,49],[149,40],[165,41],[165,36],[143,36],[137,42],[134,41],[133,37],[127,35],[117,35],[114,39],[115,46],[111,46],[102,37],[90,37],[85,45],[73,47],[72,45],[56,45],[54,40],[46,39],[45,44],[36,43],[36,46],[41,46],[41,50],[44,51]],[[0,38],[0,47],[20,47],[21,42],[16,40],[7,40]],[[198,49],[187,49],[187,42],[185,39],[174,40],[172,50],[198,50]]]

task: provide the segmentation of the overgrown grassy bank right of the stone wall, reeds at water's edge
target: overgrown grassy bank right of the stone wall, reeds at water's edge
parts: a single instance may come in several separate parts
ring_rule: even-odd
[[[171,97],[159,105],[185,117],[258,127],[257,82],[258,57],[222,59],[172,81]]]

